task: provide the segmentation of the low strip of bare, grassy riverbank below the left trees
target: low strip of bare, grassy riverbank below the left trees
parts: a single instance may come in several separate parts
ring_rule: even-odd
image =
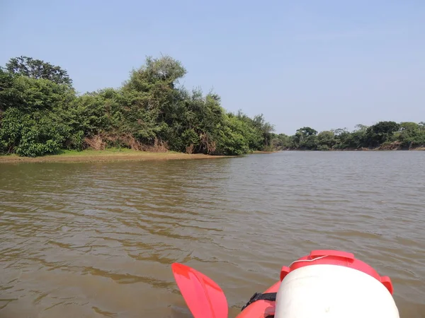
[[[45,155],[42,157],[28,158],[18,155],[1,155],[0,163],[73,163],[73,162],[111,162],[111,161],[147,161],[147,160],[188,160],[188,159],[215,159],[229,158],[227,155],[203,155],[176,153],[153,153],[147,151],[133,151],[131,149],[108,149],[103,151],[64,151],[59,155]]]

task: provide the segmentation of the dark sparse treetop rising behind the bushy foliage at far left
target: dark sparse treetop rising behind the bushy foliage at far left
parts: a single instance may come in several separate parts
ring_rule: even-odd
[[[6,70],[13,74],[31,78],[44,78],[57,84],[72,86],[72,80],[67,71],[59,66],[32,57],[14,57],[6,63]]]

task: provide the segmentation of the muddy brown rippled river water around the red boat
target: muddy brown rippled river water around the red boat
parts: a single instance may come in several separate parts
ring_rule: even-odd
[[[191,317],[177,261],[235,317],[280,267],[342,249],[425,317],[425,152],[0,165],[0,317]]]

